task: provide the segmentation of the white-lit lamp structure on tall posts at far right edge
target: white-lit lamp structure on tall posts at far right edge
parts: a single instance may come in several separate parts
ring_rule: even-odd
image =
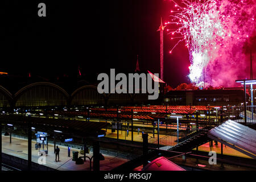
[[[253,85],[256,84],[256,80],[236,80],[237,83],[241,83],[243,85],[243,91],[244,91],[244,98],[243,98],[243,106],[245,107],[245,125],[247,120],[247,113],[246,113],[246,85],[251,85],[251,119],[253,119]]]

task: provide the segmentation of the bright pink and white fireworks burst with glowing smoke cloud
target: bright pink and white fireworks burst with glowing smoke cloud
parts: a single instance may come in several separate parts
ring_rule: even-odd
[[[170,35],[177,39],[170,53],[184,41],[191,61],[191,82],[202,85],[205,69],[208,84],[228,86],[229,78],[239,76],[246,67],[242,47],[255,30],[255,4],[231,0],[174,3],[171,22],[166,23],[175,25]]]

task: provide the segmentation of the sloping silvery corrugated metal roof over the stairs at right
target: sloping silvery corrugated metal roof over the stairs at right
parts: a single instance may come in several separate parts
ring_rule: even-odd
[[[209,131],[208,137],[256,159],[256,131],[228,120]]]

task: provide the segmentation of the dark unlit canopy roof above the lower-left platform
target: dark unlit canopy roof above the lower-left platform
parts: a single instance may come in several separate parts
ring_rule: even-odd
[[[51,119],[51,118],[34,118],[34,117],[22,117],[18,115],[1,115],[2,123],[10,123],[13,125],[20,125],[27,127],[27,121],[30,119],[31,126],[35,127],[36,130],[45,129],[59,130],[63,134],[75,134],[79,136],[91,136],[94,137],[96,134],[108,123],[105,122],[86,122],[86,121],[76,121],[69,119]]]

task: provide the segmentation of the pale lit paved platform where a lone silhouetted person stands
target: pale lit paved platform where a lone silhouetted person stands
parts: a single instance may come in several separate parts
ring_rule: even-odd
[[[75,161],[72,160],[72,151],[78,151],[76,148],[71,148],[71,156],[68,157],[67,146],[59,146],[60,148],[60,161],[55,162],[55,154],[53,152],[53,145],[49,144],[48,155],[46,155],[46,164],[44,166],[54,168],[61,171],[89,171],[90,164],[89,159],[81,165],[77,165]],[[12,142],[10,143],[9,136],[2,135],[2,152],[5,154],[13,155],[18,158],[27,160],[27,140],[17,137],[12,137]],[[86,154],[86,156],[92,157],[92,152]],[[79,156],[83,156],[79,154]],[[39,159],[38,150],[35,149],[35,142],[32,141],[32,162],[38,163]],[[100,161],[100,170],[109,171],[110,169],[119,166],[120,164],[126,162],[126,159],[116,158],[115,156],[104,155],[105,160]],[[93,161],[92,161],[93,168]]]

